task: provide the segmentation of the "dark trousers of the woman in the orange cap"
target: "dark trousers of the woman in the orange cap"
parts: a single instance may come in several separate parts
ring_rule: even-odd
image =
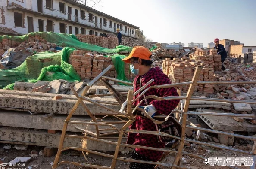
[[[138,154],[137,151],[133,151],[131,154],[131,158],[134,160],[144,160],[144,161],[152,161],[149,158]],[[130,169],[154,169],[156,165],[153,164],[145,164],[145,163],[134,163],[134,162],[130,162],[129,163],[129,167]]]

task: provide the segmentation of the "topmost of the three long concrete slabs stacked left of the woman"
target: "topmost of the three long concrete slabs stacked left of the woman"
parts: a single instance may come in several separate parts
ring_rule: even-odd
[[[97,98],[96,100],[113,101],[111,98]],[[31,97],[31,96],[18,96],[11,94],[0,95],[0,109],[4,110],[20,110],[31,112],[42,112],[42,113],[56,113],[56,114],[69,114],[77,100],[60,99],[54,100],[54,98],[45,97]],[[96,106],[94,103],[84,101],[88,109],[92,113],[112,113],[105,108]],[[119,111],[120,106],[106,105],[109,108]],[[87,112],[81,106],[76,109],[74,115],[87,115]]]

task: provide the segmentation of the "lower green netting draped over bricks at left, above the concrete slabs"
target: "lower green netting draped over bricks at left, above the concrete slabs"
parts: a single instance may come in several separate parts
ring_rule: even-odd
[[[80,81],[79,75],[67,61],[74,48],[63,48],[62,51],[37,53],[28,57],[24,63],[14,69],[0,70],[0,85],[4,89],[13,89],[15,81],[37,82],[64,79]]]

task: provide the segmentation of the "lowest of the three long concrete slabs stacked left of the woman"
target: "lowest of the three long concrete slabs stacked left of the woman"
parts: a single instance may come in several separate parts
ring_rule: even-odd
[[[25,129],[25,128],[16,128],[16,127],[0,127],[1,143],[9,144],[22,144],[22,145],[36,145],[36,146],[50,146],[50,147],[59,147],[59,139],[61,132],[56,134],[47,133],[46,130],[34,130],[34,129]],[[79,133],[67,132],[67,134],[80,135]],[[106,139],[109,141],[117,142],[117,139]],[[91,141],[86,139],[87,148],[95,151],[115,151],[116,145],[106,144],[103,142]],[[81,139],[79,138],[69,138],[66,137],[64,141],[64,147],[82,147]],[[122,143],[125,143],[126,139],[122,139]],[[123,147],[120,151],[123,150]]]

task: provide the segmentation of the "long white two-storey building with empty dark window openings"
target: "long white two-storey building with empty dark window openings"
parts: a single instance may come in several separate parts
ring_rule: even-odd
[[[123,36],[137,38],[135,29],[139,29],[76,0],[1,0],[0,15],[0,27],[18,34],[53,31],[99,36],[119,28]]]

